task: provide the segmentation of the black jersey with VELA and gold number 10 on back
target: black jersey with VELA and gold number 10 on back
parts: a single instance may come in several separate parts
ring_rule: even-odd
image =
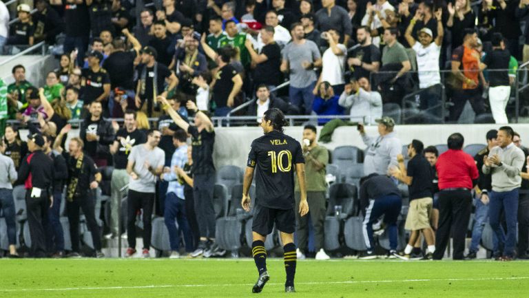
[[[294,206],[295,164],[304,163],[300,143],[279,131],[253,140],[248,167],[256,168],[256,204],[271,209]]]

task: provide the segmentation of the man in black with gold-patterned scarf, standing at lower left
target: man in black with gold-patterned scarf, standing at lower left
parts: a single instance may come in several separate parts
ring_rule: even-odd
[[[70,222],[72,239],[72,257],[79,257],[79,209],[83,210],[88,230],[92,234],[95,256],[105,257],[101,253],[101,229],[96,222],[94,189],[98,187],[97,170],[94,160],[83,153],[81,138],[72,138],[68,145],[68,184],[66,189],[66,214]]]

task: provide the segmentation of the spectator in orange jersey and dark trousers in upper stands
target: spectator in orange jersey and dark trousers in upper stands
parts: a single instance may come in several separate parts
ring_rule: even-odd
[[[485,112],[483,98],[477,86],[479,83],[479,52],[476,50],[477,33],[475,30],[466,29],[464,36],[463,45],[452,52],[452,74],[455,76],[456,81],[462,82],[461,87],[458,85],[453,91],[453,106],[450,107],[450,116],[448,118],[454,122],[461,116],[466,100],[472,105],[476,116]]]

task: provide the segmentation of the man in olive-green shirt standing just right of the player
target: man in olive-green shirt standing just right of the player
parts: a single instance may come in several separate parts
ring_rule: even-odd
[[[303,128],[303,155],[305,158],[305,173],[307,179],[307,202],[311,206],[311,221],[314,228],[314,248],[316,259],[330,259],[323,249],[325,222],[325,167],[329,162],[329,151],[316,141],[316,127],[306,125]],[[295,206],[299,209],[300,189],[298,177],[295,177]],[[298,259],[304,259],[308,252],[307,240],[309,238],[309,219],[302,217],[299,210],[295,210],[296,236],[298,237]]]

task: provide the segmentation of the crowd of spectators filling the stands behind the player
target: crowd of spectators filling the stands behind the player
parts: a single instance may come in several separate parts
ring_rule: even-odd
[[[375,256],[371,223],[384,214],[392,237],[391,254],[409,258],[413,247],[421,245],[419,235],[424,235],[427,253],[440,258],[453,225],[461,233],[453,235],[453,257],[461,259],[461,237],[466,231],[461,227],[468,225],[473,181],[481,183],[481,177],[490,173],[492,186],[483,182],[475,190],[484,205],[490,197],[488,211],[479,209],[481,226],[490,214],[497,240],[495,254],[499,259],[515,257],[515,218],[521,216],[520,223],[526,226],[528,211],[521,200],[520,209],[512,202],[517,197],[513,191],[526,175],[521,167],[525,158],[522,164],[507,164],[505,160],[506,148],[513,151],[508,140],[517,138],[512,129],[499,129],[494,138],[487,136],[488,142],[496,142],[501,135],[501,150],[494,149],[496,143],[489,145],[492,154],[481,153],[490,157],[477,158],[483,166],[476,169],[461,153],[462,136],[450,138],[448,153],[466,162],[468,179],[450,172],[455,167],[445,165],[445,173],[442,165],[435,165],[440,189],[437,224],[433,220],[436,216],[430,215],[428,200],[434,197],[435,187],[429,184],[435,175],[426,178],[422,151],[431,166],[437,157],[442,161],[442,156],[414,141],[408,149],[409,160],[414,162],[408,162],[406,169],[404,161],[408,157],[398,156],[402,145],[392,134],[395,121],[382,116],[384,105],[400,106],[404,96],[416,90],[428,94],[428,103],[422,109],[439,105],[442,96],[433,90],[444,83],[451,103],[448,121],[456,122],[468,101],[477,116],[490,111],[495,123],[508,123],[506,106],[517,61],[529,60],[527,45],[519,44],[519,36],[523,35],[519,21],[528,14],[527,0],[486,0],[479,6],[472,6],[469,0],[163,0],[143,1],[141,6],[118,0],[18,2],[10,7],[18,17],[11,25],[5,20],[12,12],[0,2],[0,19],[4,20],[0,25],[1,50],[10,53],[13,47],[45,41],[60,47],[63,54],[58,57],[59,67],[46,74],[43,86],[26,81],[24,65],[12,68],[14,83],[7,85],[0,80],[0,131],[4,136],[0,148],[12,160],[3,158],[6,177],[1,181],[6,190],[2,195],[6,200],[2,202],[3,214],[6,219],[10,217],[6,220],[10,255],[17,255],[11,220],[14,209],[8,208],[12,184],[41,189],[26,194],[32,255],[65,255],[59,207],[61,200],[66,200],[70,256],[81,253],[82,210],[92,234],[94,255],[102,257],[103,236],[99,215],[94,213],[94,191],[90,189],[110,193],[111,221],[107,222],[109,233],[105,237],[113,238],[121,237],[118,214],[121,190],[126,186],[127,210],[123,212],[127,214],[127,256],[136,253],[135,221],[140,209],[144,257],[149,257],[153,213],[165,217],[173,257],[178,257],[180,250],[180,230],[191,256],[223,255],[224,250],[215,242],[215,134],[209,117],[227,116],[254,98],[238,113],[255,116],[257,122],[264,111],[276,107],[285,114],[350,115],[352,120],[379,125],[377,138],[369,138],[362,125],[359,127],[368,147],[364,175],[391,176],[384,178],[387,183],[371,183],[387,188],[368,187],[373,177],[358,185],[366,211],[364,257]],[[525,34],[528,31],[524,30]],[[289,81],[288,92],[276,89],[284,81]],[[124,123],[119,125],[107,118],[123,118]],[[148,118],[157,119],[156,127],[150,127]],[[191,118],[194,125],[189,125]],[[20,126],[7,125],[7,120],[19,120],[28,126],[28,144],[20,139]],[[327,121],[320,118],[318,124]],[[66,135],[72,125],[79,127],[80,135],[67,147]],[[321,176],[329,158],[322,149],[313,151],[317,147],[315,129],[307,127],[305,131],[304,138],[309,140],[304,145],[307,163],[312,162],[313,171],[319,173],[311,184],[315,189],[309,189],[315,193],[308,200],[309,205],[320,206],[321,210],[311,209],[311,222],[318,238],[317,256],[325,259],[329,257],[322,247],[326,203],[322,192],[326,184]],[[186,145],[188,136],[191,146]],[[385,155],[381,155],[383,151]],[[43,164],[49,160],[43,153],[52,158],[53,164],[45,169]],[[515,153],[518,158],[519,151]],[[508,152],[513,156],[515,153]],[[39,158],[46,162],[39,162]],[[105,167],[113,167],[110,185],[106,186],[101,170]],[[50,169],[54,171],[48,173]],[[458,181],[450,175],[459,177]],[[393,187],[397,180],[410,185],[411,202],[424,211],[415,213],[409,224],[406,222],[413,233],[402,255],[396,253],[395,241],[395,221],[400,213],[400,204],[395,200],[400,191]],[[384,198],[380,204],[369,200],[377,196]],[[467,197],[464,204],[454,199]],[[49,210],[45,208],[48,202],[53,202]],[[499,224],[501,209],[506,214],[506,236]],[[519,210],[523,210],[521,215]],[[305,234],[298,239],[300,256],[307,251],[307,224],[307,219],[298,218],[300,235]],[[527,234],[519,228],[520,233],[523,231]],[[479,228],[475,233],[480,233]],[[523,241],[526,238],[520,237]],[[476,239],[470,257],[477,250],[479,235]],[[522,246],[527,244],[523,241]],[[526,255],[527,247],[521,249],[518,257]]]

